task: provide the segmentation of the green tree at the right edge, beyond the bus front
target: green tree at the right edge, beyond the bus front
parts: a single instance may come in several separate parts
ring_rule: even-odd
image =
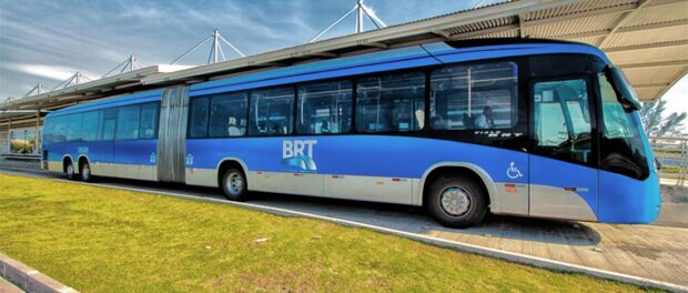
[[[640,120],[645,125],[645,131],[649,137],[672,137],[680,135],[684,131],[684,121],[686,113],[670,113],[666,118],[667,101],[661,99],[656,102],[643,103],[640,109]]]

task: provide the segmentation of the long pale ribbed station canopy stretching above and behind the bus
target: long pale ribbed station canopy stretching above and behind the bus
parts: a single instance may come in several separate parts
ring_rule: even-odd
[[[688,72],[688,0],[518,0],[223,62],[155,65],[0,103],[1,110],[59,109],[176,84],[344,55],[438,41],[538,38],[600,48],[623,69],[643,101],[662,95]]]

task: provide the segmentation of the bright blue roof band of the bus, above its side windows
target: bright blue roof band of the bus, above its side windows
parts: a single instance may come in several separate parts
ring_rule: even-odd
[[[483,39],[436,42],[201,82],[191,85],[189,94],[194,97],[433,64],[550,53],[593,54],[609,63],[607,57],[599,49],[576,42],[539,39]],[[161,94],[162,90],[159,89],[118,95],[101,101],[69,107],[54,111],[51,115],[156,101],[160,100]]]

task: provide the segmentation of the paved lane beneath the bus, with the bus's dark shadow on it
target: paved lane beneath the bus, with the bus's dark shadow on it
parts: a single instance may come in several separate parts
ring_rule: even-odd
[[[0,171],[2,171],[0,169]],[[59,178],[37,171],[23,175]],[[213,189],[103,179],[101,185],[219,198]],[[260,194],[251,203],[421,233],[508,252],[550,259],[688,286],[688,204],[668,203],[654,225],[489,216],[478,226],[446,229],[421,209],[365,202]]]

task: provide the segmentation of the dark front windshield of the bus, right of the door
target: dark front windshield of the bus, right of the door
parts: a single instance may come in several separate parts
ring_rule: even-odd
[[[635,95],[624,97],[624,90],[619,89],[626,88],[626,94],[631,94],[633,90],[625,81],[615,84],[618,80],[614,75],[598,74],[603,105],[600,168],[644,180],[649,175],[649,168],[641,135],[643,125],[637,113],[639,102],[629,100],[635,99]]]

